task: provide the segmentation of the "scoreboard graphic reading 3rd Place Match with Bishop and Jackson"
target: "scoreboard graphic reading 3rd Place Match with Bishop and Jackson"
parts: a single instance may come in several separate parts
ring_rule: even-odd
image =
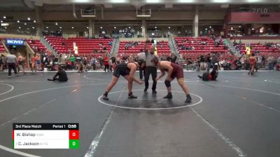
[[[78,149],[79,124],[13,124],[13,149]]]

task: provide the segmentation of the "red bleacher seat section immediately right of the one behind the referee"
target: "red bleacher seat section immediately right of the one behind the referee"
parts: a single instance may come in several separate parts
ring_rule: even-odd
[[[225,49],[222,39],[218,41],[219,45],[215,45],[215,40],[209,37],[176,37],[174,40],[179,54],[182,54],[185,58],[197,59],[200,55],[206,55],[212,52],[223,54],[225,58],[231,56],[228,55],[229,50]],[[206,45],[202,45],[201,42],[205,42]],[[182,50],[182,47],[179,45],[194,47],[194,50]]]

